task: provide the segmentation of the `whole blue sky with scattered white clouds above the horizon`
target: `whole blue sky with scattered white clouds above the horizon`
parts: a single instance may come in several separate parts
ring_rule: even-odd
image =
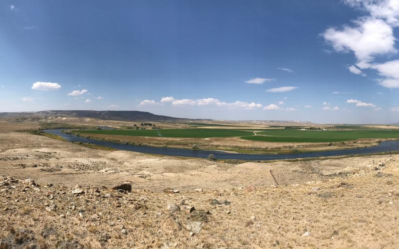
[[[399,0],[0,4],[0,112],[399,122]]]

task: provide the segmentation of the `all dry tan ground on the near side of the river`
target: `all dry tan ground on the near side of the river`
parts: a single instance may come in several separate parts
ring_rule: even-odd
[[[0,248],[399,244],[397,154],[226,163],[16,131],[29,127],[0,123]]]

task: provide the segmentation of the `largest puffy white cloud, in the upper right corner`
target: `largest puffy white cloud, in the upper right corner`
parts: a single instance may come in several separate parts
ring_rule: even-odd
[[[344,0],[350,6],[368,13],[354,21],[352,27],[327,29],[322,35],[336,51],[354,52],[358,62],[349,67],[352,73],[364,75],[361,69],[374,69],[383,77],[381,86],[399,88],[398,60],[373,63],[376,56],[391,56],[395,48],[394,28],[399,26],[398,0]]]

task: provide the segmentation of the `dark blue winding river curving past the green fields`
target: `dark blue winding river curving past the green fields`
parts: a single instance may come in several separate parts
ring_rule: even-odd
[[[163,148],[152,146],[138,146],[117,142],[101,141],[85,137],[80,137],[72,134],[62,132],[63,129],[46,129],[44,132],[61,136],[62,138],[71,142],[92,143],[101,146],[111,147],[120,150],[129,150],[142,153],[169,155],[169,156],[188,156],[206,158],[209,154],[214,154],[216,159],[235,159],[235,160],[279,160],[279,159],[295,159],[308,158],[320,156],[340,156],[340,155],[355,155],[355,154],[370,154],[399,150],[399,140],[383,141],[377,146],[358,148],[358,149],[342,149],[329,151],[315,151],[302,152],[290,154],[242,154],[242,153],[228,153],[217,150],[194,150],[194,149],[179,149],[179,148]]]

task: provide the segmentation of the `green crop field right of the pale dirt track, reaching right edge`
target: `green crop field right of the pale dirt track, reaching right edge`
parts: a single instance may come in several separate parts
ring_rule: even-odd
[[[267,142],[338,142],[357,139],[399,138],[399,129],[298,130],[270,129],[242,139]]]

